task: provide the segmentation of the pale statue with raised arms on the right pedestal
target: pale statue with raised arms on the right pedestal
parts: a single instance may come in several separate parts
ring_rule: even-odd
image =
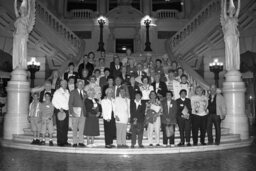
[[[240,3],[240,0],[238,0],[236,9],[233,0],[229,0],[229,9],[227,11],[227,0],[221,0],[220,21],[224,34],[225,64],[227,71],[240,69],[239,31],[237,28]]]

